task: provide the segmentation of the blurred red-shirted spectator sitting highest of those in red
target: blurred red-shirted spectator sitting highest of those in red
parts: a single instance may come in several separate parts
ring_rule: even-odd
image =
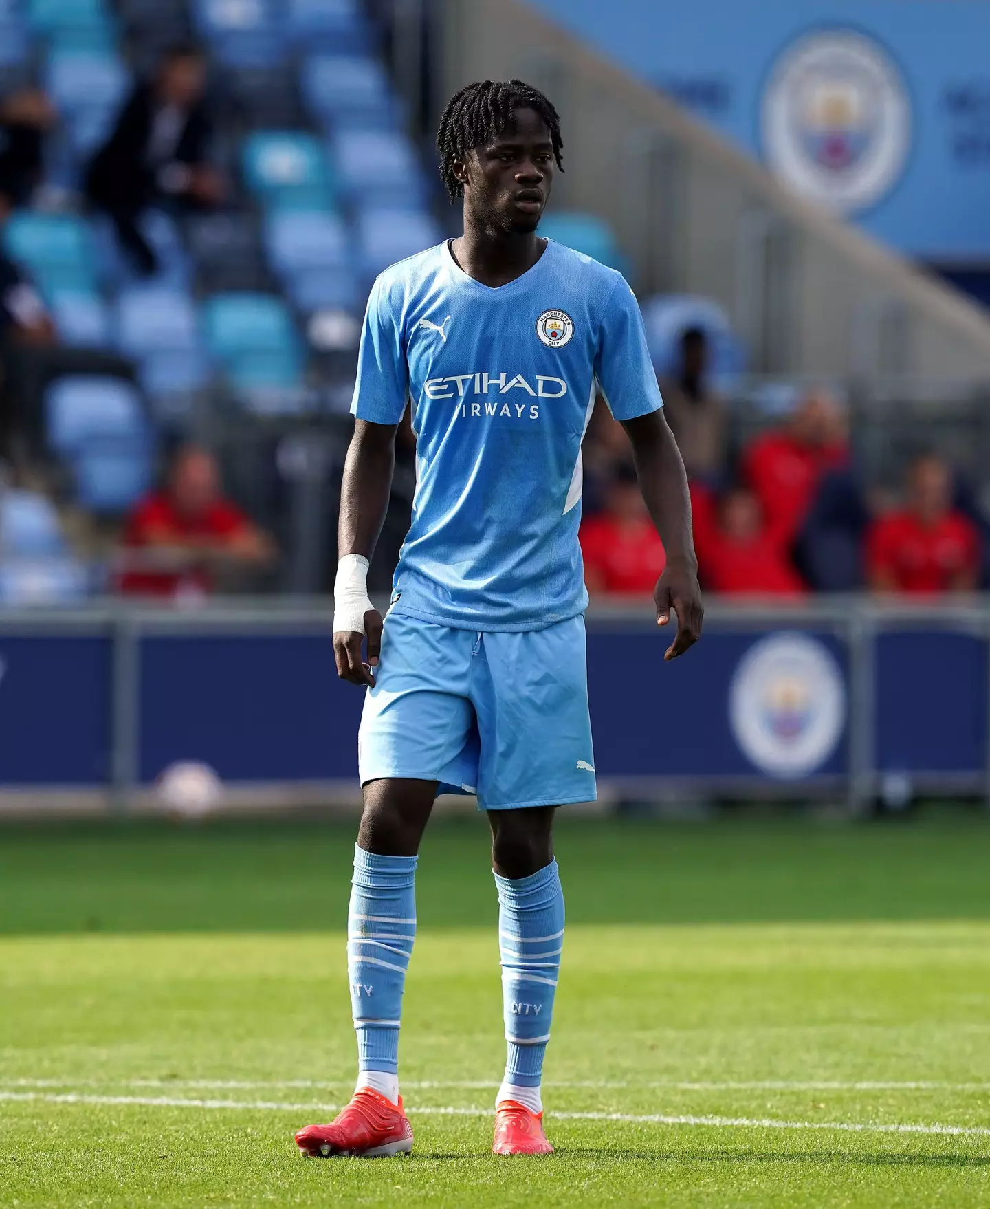
[[[766,527],[789,544],[822,475],[847,461],[844,410],[820,389],[801,401],[783,428],[752,441],[742,455],[742,478],[760,503]]]

